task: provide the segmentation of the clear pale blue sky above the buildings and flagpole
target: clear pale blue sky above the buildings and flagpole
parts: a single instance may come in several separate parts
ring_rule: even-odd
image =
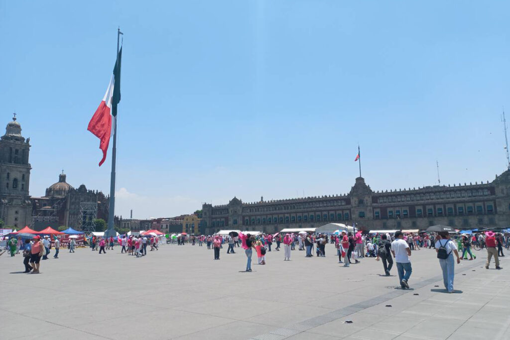
[[[87,124],[124,33],[116,214],[493,180],[510,72],[504,1],[0,0],[0,117],[30,193],[109,192]]]

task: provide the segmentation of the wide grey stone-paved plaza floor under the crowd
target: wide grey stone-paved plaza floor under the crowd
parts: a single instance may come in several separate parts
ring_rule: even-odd
[[[163,245],[133,258],[120,248],[78,249],[22,274],[22,256],[0,257],[2,339],[509,339],[510,267],[483,268],[485,251],[456,265],[456,294],[445,294],[435,251],[412,255],[411,290],[396,268],[364,258],[343,268],[325,258],[268,252],[246,266],[244,251]],[[391,307],[387,307],[391,305]],[[346,323],[350,320],[352,323]]]

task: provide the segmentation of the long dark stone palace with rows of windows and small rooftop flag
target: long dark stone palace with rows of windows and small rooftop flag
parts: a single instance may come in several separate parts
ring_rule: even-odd
[[[456,229],[510,225],[510,170],[486,183],[430,186],[374,192],[363,177],[347,195],[318,196],[226,205],[202,205],[201,230],[276,232],[336,222],[360,229],[426,229],[445,224]]]

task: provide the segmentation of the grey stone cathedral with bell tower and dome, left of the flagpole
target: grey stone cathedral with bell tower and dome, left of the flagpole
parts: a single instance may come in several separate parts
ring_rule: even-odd
[[[0,137],[0,219],[5,226],[42,230],[64,225],[80,229],[82,202],[96,203],[96,212],[90,218],[108,219],[108,197],[87,190],[83,184],[74,189],[66,182],[64,173],[46,189],[43,197],[31,197],[29,153],[30,138],[25,140],[21,136],[21,125],[14,116],[5,135]]]

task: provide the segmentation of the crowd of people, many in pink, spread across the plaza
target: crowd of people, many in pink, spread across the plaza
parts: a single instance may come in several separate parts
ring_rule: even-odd
[[[351,232],[343,230],[338,234],[327,235],[324,233],[275,233],[275,234],[242,234],[233,232],[229,235],[211,235],[211,236],[187,236],[181,234],[177,238],[177,245],[195,245],[202,246],[204,243],[208,249],[214,250],[214,260],[220,259],[220,249],[227,245],[227,254],[236,253],[236,248],[242,248],[247,257],[246,272],[251,272],[251,258],[253,251],[257,255],[257,263],[266,265],[266,254],[271,251],[280,251],[283,244],[284,261],[291,260],[291,251],[304,251],[304,257],[314,257],[314,248],[317,257],[325,257],[325,246],[328,243],[334,244],[337,250],[338,263],[343,267],[349,267],[351,264],[359,264],[360,259],[364,257],[375,257],[377,261],[382,262],[384,275],[390,276],[391,270],[395,265],[398,272],[398,280],[402,289],[409,288],[409,279],[412,274],[410,257],[412,251],[418,251],[422,248],[435,248],[439,264],[443,272],[445,289],[452,293],[454,280],[455,260],[460,263],[461,259],[473,260],[475,252],[472,251],[474,245],[480,249],[486,249],[487,261],[486,268],[489,269],[492,258],[494,258],[495,268],[502,269],[499,266],[499,257],[504,256],[503,249],[510,247],[510,234],[501,232],[476,232],[473,234],[452,234],[448,232],[420,232],[403,233],[396,231],[394,233],[375,233],[367,234],[361,231]],[[121,253],[141,257],[147,255],[147,246],[150,251],[158,250],[158,237],[153,235],[127,236],[126,234],[118,238],[105,238],[92,236],[90,238],[90,248],[92,251],[99,249],[99,254],[106,254],[106,250],[113,250],[115,244],[121,246]],[[273,243],[276,247],[272,248]],[[60,241],[57,237],[52,241],[49,236],[34,236],[32,239],[10,237],[7,241],[7,249],[11,256],[15,256],[22,251],[24,273],[39,273],[40,260],[48,259],[48,255],[55,249],[54,258],[58,258],[60,250]],[[68,249],[70,253],[74,252],[75,242],[70,239]],[[460,250],[462,249],[462,255]],[[4,251],[5,252],[5,251]],[[1,255],[2,253],[0,253]],[[467,257],[469,255],[469,258]]]

